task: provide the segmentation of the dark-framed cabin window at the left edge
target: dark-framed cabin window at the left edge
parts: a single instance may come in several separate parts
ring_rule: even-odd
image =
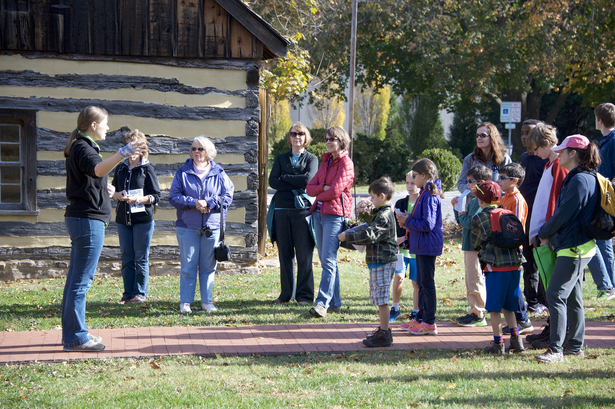
[[[0,109],[0,214],[36,214],[33,111]]]

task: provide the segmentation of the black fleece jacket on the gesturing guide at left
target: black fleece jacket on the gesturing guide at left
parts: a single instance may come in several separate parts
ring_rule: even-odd
[[[111,220],[111,199],[107,192],[107,176],[98,177],[94,168],[103,160],[92,141],[77,136],[66,158],[66,206],[64,217]]]

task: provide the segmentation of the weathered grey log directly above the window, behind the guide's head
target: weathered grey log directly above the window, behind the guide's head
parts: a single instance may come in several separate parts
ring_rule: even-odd
[[[35,111],[79,112],[84,106],[105,107],[109,114],[155,117],[157,119],[220,119],[220,120],[260,120],[260,107],[216,108],[216,107],[179,107],[146,104],[133,101],[104,101],[100,99],[55,99],[55,98],[11,98],[0,96],[0,108],[33,109]]]

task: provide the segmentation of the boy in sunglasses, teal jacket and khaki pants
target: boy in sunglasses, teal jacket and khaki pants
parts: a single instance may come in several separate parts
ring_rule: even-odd
[[[467,171],[467,189],[474,191],[477,184],[490,181],[492,177],[491,169],[483,165],[476,165]],[[453,198],[453,207],[457,204],[459,197]],[[457,317],[455,322],[461,327],[484,327],[487,325],[485,319],[485,279],[480,270],[478,262],[478,251],[472,248],[472,217],[476,216],[482,209],[478,206],[478,199],[473,198],[467,204],[467,212],[453,209],[456,222],[462,227],[461,230],[461,250],[463,251],[464,268],[466,270],[466,295],[470,310],[464,316]]]

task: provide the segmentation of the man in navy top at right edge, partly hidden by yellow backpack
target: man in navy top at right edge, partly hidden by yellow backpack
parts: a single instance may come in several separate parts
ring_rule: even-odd
[[[615,181],[615,105],[610,103],[600,104],[594,110],[596,115],[596,129],[602,133],[598,150],[600,152],[600,167],[598,173]],[[613,256],[613,241],[596,240],[596,247],[600,251],[604,267],[600,263],[600,257],[596,254],[589,262],[589,270],[593,281],[598,287],[598,299],[611,300],[615,298],[615,257]]]

